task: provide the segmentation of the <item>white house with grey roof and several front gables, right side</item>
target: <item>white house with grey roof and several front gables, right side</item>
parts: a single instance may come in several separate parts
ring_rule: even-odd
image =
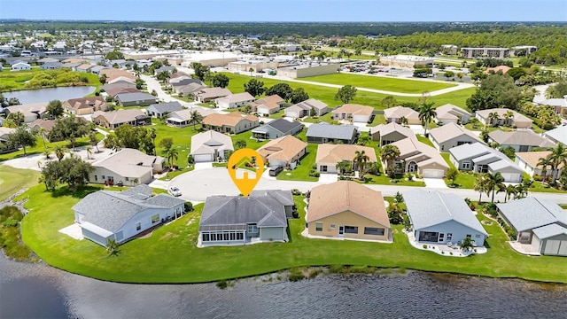
[[[498,150],[485,144],[462,144],[449,150],[449,160],[454,167],[478,173],[500,172],[504,182],[522,182],[523,171],[516,163]]]

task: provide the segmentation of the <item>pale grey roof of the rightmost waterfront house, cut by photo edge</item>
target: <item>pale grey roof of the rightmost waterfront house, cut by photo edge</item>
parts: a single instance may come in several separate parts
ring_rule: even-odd
[[[496,206],[517,231],[533,230],[552,223],[567,226],[567,213],[553,201],[528,196]]]

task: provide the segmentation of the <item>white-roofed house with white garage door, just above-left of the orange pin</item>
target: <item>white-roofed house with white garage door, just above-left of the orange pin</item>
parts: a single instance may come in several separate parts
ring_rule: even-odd
[[[227,153],[234,151],[230,136],[208,130],[191,136],[191,152],[195,162],[228,160]]]

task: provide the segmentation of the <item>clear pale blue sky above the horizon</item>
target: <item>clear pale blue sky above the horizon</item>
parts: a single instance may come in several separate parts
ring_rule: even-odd
[[[0,0],[0,19],[567,21],[567,0]]]

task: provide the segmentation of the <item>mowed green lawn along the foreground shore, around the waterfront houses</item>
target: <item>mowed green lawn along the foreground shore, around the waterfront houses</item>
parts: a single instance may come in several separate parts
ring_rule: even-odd
[[[96,187],[88,189],[96,190]],[[564,258],[528,257],[514,252],[496,222],[485,226],[491,234],[486,239],[488,253],[468,258],[451,258],[413,248],[399,225],[393,226],[393,244],[302,237],[305,203],[299,197],[295,202],[300,218],[289,221],[289,243],[197,248],[203,207],[198,205],[194,212],[155,230],[151,237],[121,245],[119,255],[110,257],[100,245],[89,240],[77,241],[58,232],[74,222],[71,207],[86,193],[71,195],[65,189],[50,193],[44,191],[43,185],[27,191],[24,196],[29,198],[26,206],[30,213],[22,222],[22,236],[51,266],[102,280],[200,283],[294,267],[353,265],[567,283]],[[480,214],[478,218],[486,220]]]

